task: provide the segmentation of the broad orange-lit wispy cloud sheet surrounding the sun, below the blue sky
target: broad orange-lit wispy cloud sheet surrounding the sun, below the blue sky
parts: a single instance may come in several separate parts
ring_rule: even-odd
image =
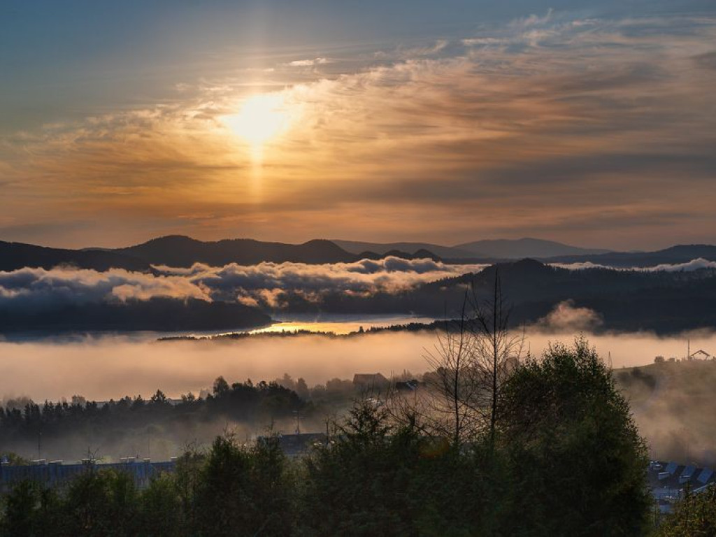
[[[281,57],[0,140],[1,225],[96,219],[83,245],[129,222],[137,239],[712,240],[715,37],[705,16],[544,12],[379,57]],[[256,92],[290,117],[260,160],[221,120]]]

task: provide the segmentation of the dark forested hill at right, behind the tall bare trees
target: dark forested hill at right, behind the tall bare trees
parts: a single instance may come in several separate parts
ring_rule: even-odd
[[[503,294],[511,304],[514,324],[534,323],[569,301],[571,308],[589,308],[601,318],[594,329],[659,333],[716,326],[716,270],[692,272],[569,270],[525,259],[499,263],[478,274],[465,274],[424,284],[402,294],[369,297],[326,294],[311,304],[298,294],[286,294],[287,311],[325,313],[405,314],[442,318],[455,316],[474,286],[481,298],[493,292],[499,271]]]

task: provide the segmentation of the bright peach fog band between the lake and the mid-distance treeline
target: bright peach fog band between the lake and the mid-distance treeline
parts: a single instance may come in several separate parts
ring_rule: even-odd
[[[526,347],[539,354],[548,342],[569,343],[574,332],[527,334]],[[288,373],[309,385],[357,372],[386,376],[427,369],[425,349],[433,333],[391,332],[356,337],[253,337],[220,341],[156,342],[136,336],[100,336],[81,340],[0,342],[0,398],[35,401],[83,395],[89,400],[124,395],[148,397],[157,389],[170,397],[198,393],[223,375],[229,382],[271,380]],[[716,335],[589,335],[589,341],[615,369],[649,364],[654,357],[684,357],[691,351],[716,352]]]

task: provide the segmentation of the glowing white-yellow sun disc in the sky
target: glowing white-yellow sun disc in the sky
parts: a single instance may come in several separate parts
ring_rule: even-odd
[[[223,121],[251,145],[263,145],[286,130],[289,112],[280,94],[253,95],[243,102],[238,114],[226,116]]]

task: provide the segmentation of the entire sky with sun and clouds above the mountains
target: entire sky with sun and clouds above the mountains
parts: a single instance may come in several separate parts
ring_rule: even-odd
[[[712,0],[5,0],[0,240],[716,243]]]

